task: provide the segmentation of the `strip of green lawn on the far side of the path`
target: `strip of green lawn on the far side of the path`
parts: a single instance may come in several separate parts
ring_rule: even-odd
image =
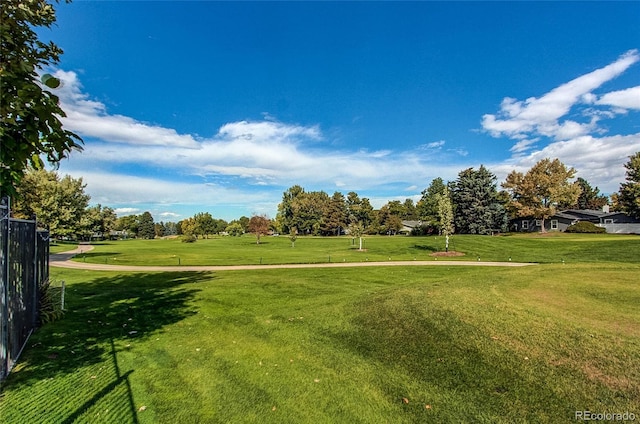
[[[182,243],[179,239],[127,240],[94,244],[95,250],[77,261],[122,265],[235,265],[274,263],[433,260],[444,250],[442,237],[366,237],[358,251],[350,237],[216,237]],[[640,262],[640,236],[549,233],[451,238],[451,250],[465,253],[453,259],[566,263]]]

